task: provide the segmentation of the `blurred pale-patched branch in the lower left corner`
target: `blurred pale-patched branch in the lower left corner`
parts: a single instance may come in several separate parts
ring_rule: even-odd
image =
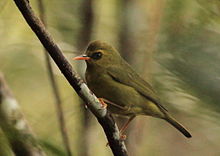
[[[0,121],[0,126],[16,155],[45,156],[1,73]]]

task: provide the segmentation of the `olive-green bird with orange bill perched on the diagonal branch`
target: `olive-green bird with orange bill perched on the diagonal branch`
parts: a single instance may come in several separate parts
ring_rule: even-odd
[[[143,80],[111,45],[93,41],[84,55],[74,60],[86,60],[86,82],[97,97],[108,104],[113,114],[129,116],[121,133],[137,115],[161,118],[177,128],[187,138],[191,134],[161,105],[149,83]]]

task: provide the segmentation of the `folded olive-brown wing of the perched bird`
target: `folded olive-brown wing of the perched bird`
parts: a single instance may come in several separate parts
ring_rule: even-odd
[[[108,67],[107,73],[112,77],[113,80],[133,87],[141,95],[155,103],[159,108],[167,111],[167,109],[160,104],[160,100],[153,90],[152,86],[144,81],[126,62],[123,62],[120,67]]]

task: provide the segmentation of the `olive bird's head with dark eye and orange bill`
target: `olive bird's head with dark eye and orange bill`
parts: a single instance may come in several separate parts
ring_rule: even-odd
[[[93,41],[88,45],[85,54],[74,57],[74,60],[85,60],[87,66],[107,67],[109,64],[117,64],[120,55],[111,45],[102,41]]]

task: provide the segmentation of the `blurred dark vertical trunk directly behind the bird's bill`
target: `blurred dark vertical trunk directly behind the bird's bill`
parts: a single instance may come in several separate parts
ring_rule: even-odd
[[[93,0],[82,1],[80,5],[80,22],[82,26],[80,27],[78,36],[77,36],[77,49],[78,51],[84,50],[83,48],[91,40],[92,28],[93,28]],[[78,64],[79,65],[79,64]],[[77,65],[77,67],[79,67]],[[80,67],[79,67],[80,68]],[[82,101],[83,102],[83,101]],[[82,135],[80,137],[79,146],[83,146],[84,148],[79,149],[79,156],[89,156],[89,143],[90,143],[90,133],[91,126],[90,123],[93,118],[91,118],[91,113],[88,109],[82,109]]]

